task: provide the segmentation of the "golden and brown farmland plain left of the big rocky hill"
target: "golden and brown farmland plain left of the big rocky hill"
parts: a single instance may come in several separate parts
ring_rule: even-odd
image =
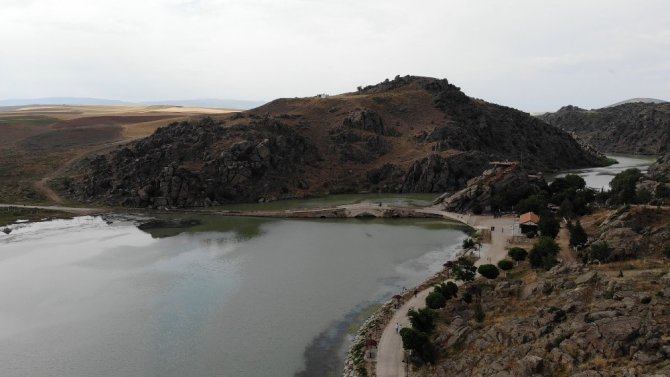
[[[72,163],[157,128],[235,110],[173,106],[0,108],[0,203],[63,204],[49,187]]]

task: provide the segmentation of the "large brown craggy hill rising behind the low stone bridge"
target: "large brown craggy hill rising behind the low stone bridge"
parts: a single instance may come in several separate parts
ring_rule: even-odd
[[[405,76],[172,124],[83,161],[61,189],[78,200],[151,207],[442,193],[465,187],[491,160],[522,160],[532,171],[604,162],[527,113],[470,98],[447,80]]]

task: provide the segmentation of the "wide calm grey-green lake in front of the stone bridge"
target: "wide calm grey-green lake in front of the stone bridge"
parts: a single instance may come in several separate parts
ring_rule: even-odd
[[[0,233],[3,376],[322,376],[356,314],[464,233],[440,221],[79,217]]]

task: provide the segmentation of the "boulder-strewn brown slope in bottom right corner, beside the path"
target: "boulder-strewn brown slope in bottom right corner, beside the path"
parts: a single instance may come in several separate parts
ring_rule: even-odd
[[[483,288],[483,322],[452,300],[440,313],[437,376],[668,375],[670,286],[662,273],[611,278],[559,265],[535,282]],[[577,283],[579,282],[579,283]],[[526,289],[530,285],[542,289]],[[467,287],[464,287],[467,289]],[[522,292],[528,292],[522,296]]]

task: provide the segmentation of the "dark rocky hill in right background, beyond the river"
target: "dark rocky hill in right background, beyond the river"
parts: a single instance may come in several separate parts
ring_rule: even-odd
[[[596,110],[562,107],[540,119],[572,133],[601,152],[670,151],[670,103],[625,103]]]

